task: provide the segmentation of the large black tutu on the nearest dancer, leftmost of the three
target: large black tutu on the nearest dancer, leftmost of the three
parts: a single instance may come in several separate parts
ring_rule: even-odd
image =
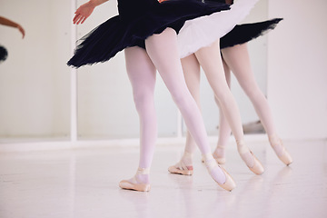
[[[201,0],[118,0],[119,15],[84,35],[67,64],[80,67],[108,61],[126,47],[145,47],[148,36],[167,27],[178,33],[186,20],[228,9],[229,5]]]

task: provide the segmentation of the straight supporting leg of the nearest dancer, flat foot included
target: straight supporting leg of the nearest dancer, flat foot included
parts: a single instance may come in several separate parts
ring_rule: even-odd
[[[149,171],[157,137],[154,109],[156,70],[143,48],[129,47],[124,50],[124,54],[127,74],[133,87],[134,104],[140,119],[140,161],[135,176],[119,185],[124,189],[149,191]]]

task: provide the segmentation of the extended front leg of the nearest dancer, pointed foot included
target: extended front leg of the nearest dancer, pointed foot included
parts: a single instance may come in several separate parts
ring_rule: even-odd
[[[145,40],[145,46],[147,53],[163,78],[163,83],[167,86],[173,101],[181,111],[194,141],[199,146],[213,180],[224,189],[231,191],[235,186],[233,179],[214,161],[200,109],[185,84],[175,31],[172,28],[166,28],[160,35],[148,37]]]

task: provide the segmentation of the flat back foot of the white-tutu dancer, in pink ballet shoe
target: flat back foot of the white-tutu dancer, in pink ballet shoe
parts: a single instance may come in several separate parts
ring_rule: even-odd
[[[170,166],[168,171],[175,174],[192,175],[193,174],[193,154],[184,152],[181,161]]]

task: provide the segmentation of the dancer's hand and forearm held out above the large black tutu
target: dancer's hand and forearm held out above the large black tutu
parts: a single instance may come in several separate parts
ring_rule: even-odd
[[[73,23],[74,25],[83,24],[87,17],[89,17],[94,8],[109,0],[90,0],[84,5],[81,5],[75,12]]]

